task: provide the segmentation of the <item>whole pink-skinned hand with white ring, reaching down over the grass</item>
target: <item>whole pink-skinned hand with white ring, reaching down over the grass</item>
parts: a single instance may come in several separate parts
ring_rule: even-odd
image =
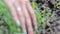
[[[22,28],[22,34],[34,34],[37,30],[37,21],[29,0],[4,0],[9,7],[12,18],[16,24]],[[32,26],[33,25],[33,26]]]

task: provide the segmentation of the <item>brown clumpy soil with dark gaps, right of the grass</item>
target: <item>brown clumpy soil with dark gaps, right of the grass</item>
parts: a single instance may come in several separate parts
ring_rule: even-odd
[[[53,0],[36,0],[39,10],[43,10],[44,4],[48,7],[47,10],[51,10],[51,17],[47,20],[45,29],[40,30],[40,34],[60,34],[60,4],[54,8],[53,2]]]

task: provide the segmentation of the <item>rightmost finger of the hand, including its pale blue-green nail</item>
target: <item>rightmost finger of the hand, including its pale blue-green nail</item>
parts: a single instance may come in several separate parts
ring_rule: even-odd
[[[27,3],[26,3],[26,7],[27,7],[27,9],[28,9],[28,11],[29,11],[29,13],[30,13],[31,18],[32,18],[34,28],[35,28],[36,31],[38,31],[38,29],[37,29],[37,28],[38,28],[38,27],[37,27],[37,20],[36,20],[34,11],[32,10],[32,7],[31,7],[30,2],[27,2]]]

